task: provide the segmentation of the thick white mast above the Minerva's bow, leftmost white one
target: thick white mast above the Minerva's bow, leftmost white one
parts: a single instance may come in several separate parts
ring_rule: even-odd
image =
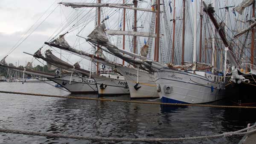
[[[197,0],[194,1],[194,5],[195,5],[195,12],[194,12],[194,46],[193,46],[193,63],[196,62],[196,28],[197,28]],[[195,70],[195,67],[194,67]]]

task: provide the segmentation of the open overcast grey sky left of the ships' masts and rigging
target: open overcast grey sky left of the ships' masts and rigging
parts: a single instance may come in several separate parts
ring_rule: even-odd
[[[32,56],[26,55],[23,52],[33,54],[38,50],[44,44],[44,41],[47,41],[52,33],[55,32],[56,28],[60,26],[61,22],[64,21],[63,17],[67,16],[68,13],[73,10],[72,8],[67,8],[63,11],[64,6],[60,8],[57,4],[60,1],[62,0],[0,0],[0,59],[7,55],[20,37],[22,37],[33,24],[35,25],[23,39],[57,7],[32,35],[6,58],[7,63],[13,63],[14,65],[16,62],[17,65],[18,62],[20,65],[25,65],[26,61],[31,61]],[[47,9],[49,10],[47,11]],[[44,14],[46,11],[47,13]],[[43,14],[44,17],[35,23]],[[23,39],[21,39],[21,41]],[[75,61],[78,58],[73,59],[73,61]],[[34,60],[33,66],[35,64],[39,64],[39,62]]]

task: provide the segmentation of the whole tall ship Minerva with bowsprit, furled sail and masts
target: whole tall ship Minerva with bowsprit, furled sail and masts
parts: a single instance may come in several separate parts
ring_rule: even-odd
[[[201,60],[198,60],[197,58],[197,12],[194,12],[194,37],[192,43],[194,49],[192,54],[190,53],[190,55],[193,55],[193,60],[192,62],[184,61],[186,20],[185,2],[186,0],[183,0],[183,32],[182,35],[180,35],[182,37],[182,58],[180,62],[176,60],[176,63],[180,63],[180,65],[174,65],[173,63],[162,64],[158,62],[159,53],[161,50],[158,50],[158,52],[156,51],[156,60],[150,60],[146,57],[143,57],[142,55],[136,55],[132,54],[131,52],[125,52],[122,51],[122,49],[118,49],[109,40],[106,40],[106,34],[108,33],[108,30],[105,31],[104,23],[102,23],[102,26],[98,26],[94,30],[94,33],[99,33],[99,35],[89,35],[87,41],[104,46],[108,49],[109,52],[113,53],[119,58],[122,58],[123,60],[128,61],[129,63],[131,63],[131,65],[137,66],[137,69],[145,69],[146,71],[150,72],[151,75],[154,74],[154,84],[156,84],[157,86],[157,92],[160,95],[160,99],[162,102],[200,104],[217,101],[225,97],[224,75],[222,72],[220,72],[220,70],[218,70],[217,67],[215,67],[220,62],[216,62],[215,55],[217,54],[214,53],[214,50],[212,50],[212,65],[201,63]],[[191,5],[191,3],[187,5]],[[193,5],[195,6],[194,9],[197,9],[197,1],[195,1]],[[160,8],[158,8],[157,10],[159,9]],[[206,37],[209,35],[210,34],[207,34]],[[156,42],[156,44],[157,43],[158,42]],[[202,44],[201,40],[200,43]],[[215,44],[215,40],[213,40],[212,43]],[[214,48],[215,46],[213,46],[212,49]],[[173,49],[173,52],[175,53],[175,47],[173,47]],[[188,53],[186,55],[188,55]],[[218,67],[221,67],[220,64]],[[127,69],[127,71],[128,70],[130,69]],[[138,71],[139,70],[137,70],[137,73]],[[134,71],[134,74],[136,74],[135,72],[136,71]],[[131,73],[131,75],[133,74]]]

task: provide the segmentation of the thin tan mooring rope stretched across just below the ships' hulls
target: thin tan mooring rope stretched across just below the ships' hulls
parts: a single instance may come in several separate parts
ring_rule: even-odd
[[[9,92],[0,91],[0,93],[17,94],[17,95],[35,95],[43,97],[53,97],[53,98],[70,98],[70,99],[83,99],[83,100],[93,100],[93,101],[110,101],[110,102],[123,102],[123,103],[137,103],[137,104],[163,104],[170,106],[192,106],[192,107],[216,107],[216,108],[247,108],[256,109],[256,107],[244,107],[244,106],[218,106],[218,105],[208,105],[208,104],[172,104],[172,103],[160,103],[160,102],[148,102],[148,101],[126,101],[126,100],[113,100],[106,98],[88,98],[88,97],[74,97],[74,96],[61,96],[61,95],[45,95],[45,94],[35,94],[35,93],[25,93],[25,92]]]

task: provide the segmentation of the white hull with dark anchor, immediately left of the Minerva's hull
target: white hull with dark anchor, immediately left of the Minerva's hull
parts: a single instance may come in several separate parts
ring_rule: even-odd
[[[154,83],[154,74],[139,70],[139,83],[135,86],[137,84],[137,69],[122,66],[117,66],[116,69],[124,75],[131,98],[159,98],[157,85]]]

